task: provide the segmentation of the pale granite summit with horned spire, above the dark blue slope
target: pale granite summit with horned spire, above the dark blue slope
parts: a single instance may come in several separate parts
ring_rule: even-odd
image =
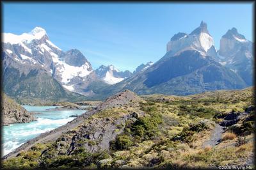
[[[172,52],[173,56],[184,50],[198,50],[203,56],[216,55],[214,41],[205,22],[202,21],[200,26],[189,35],[186,33],[175,34],[166,45],[166,51]]]

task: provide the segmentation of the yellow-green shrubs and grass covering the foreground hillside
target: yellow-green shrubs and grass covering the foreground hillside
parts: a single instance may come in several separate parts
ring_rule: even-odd
[[[63,141],[41,144],[26,153],[3,162],[3,167],[218,167],[246,164],[253,153],[252,88],[237,91],[206,92],[188,97],[143,96],[139,109],[120,106],[105,109],[65,134]],[[220,144],[203,147],[216,127],[231,112],[248,111],[241,120],[225,128]],[[88,151],[85,144],[99,141],[76,141],[77,132],[95,120],[111,123],[132,113],[125,123],[116,124],[116,137],[109,150]],[[84,134],[85,135],[85,134]],[[67,153],[67,140],[76,142]],[[63,146],[61,146],[63,145]],[[63,153],[61,149],[65,148]],[[48,153],[44,153],[47,150]]]

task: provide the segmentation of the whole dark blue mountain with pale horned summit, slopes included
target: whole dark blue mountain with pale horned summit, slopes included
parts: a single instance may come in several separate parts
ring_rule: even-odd
[[[100,93],[108,96],[129,89],[140,95],[191,95],[248,86],[239,74],[216,61],[216,57],[217,52],[207,24],[201,22],[189,35],[174,35],[167,44],[166,54],[154,65],[134,73],[118,84],[100,89]]]

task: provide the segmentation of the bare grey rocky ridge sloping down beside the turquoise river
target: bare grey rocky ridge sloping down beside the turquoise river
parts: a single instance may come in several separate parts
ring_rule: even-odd
[[[29,150],[31,146],[37,143],[55,142],[52,147],[56,146],[56,148],[49,148],[49,150],[54,150],[54,153],[50,151],[54,155],[71,154],[81,143],[88,151],[92,152],[100,150],[100,148],[108,148],[109,141],[115,139],[116,135],[122,132],[125,121],[138,118],[140,112],[134,112],[134,109],[139,107],[138,102],[140,101],[143,101],[143,99],[135,93],[124,90],[113,97],[109,97],[95,109],[81,114],[66,125],[41,134],[22,144],[12,153],[5,155],[3,159],[15,157],[20,151]],[[120,109],[120,107],[132,107],[133,111],[127,112]],[[97,141],[97,143],[93,141]],[[52,157],[52,155],[49,155],[49,150],[48,152],[45,151],[45,157]]]

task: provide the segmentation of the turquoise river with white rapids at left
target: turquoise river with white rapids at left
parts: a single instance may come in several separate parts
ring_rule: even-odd
[[[3,127],[2,138],[2,155],[6,155],[21,144],[26,143],[29,139],[48,132],[54,128],[65,125],[68,121],[74,120],[70,117],[72,114],[82,114],[85,110],[68,110],[68,111],[47,111],[46,109],[54,109],[56,106],[28,106],[25,109],[31,112],[40,112],[36,114],[36,121],[29,123],[15,123]]]

